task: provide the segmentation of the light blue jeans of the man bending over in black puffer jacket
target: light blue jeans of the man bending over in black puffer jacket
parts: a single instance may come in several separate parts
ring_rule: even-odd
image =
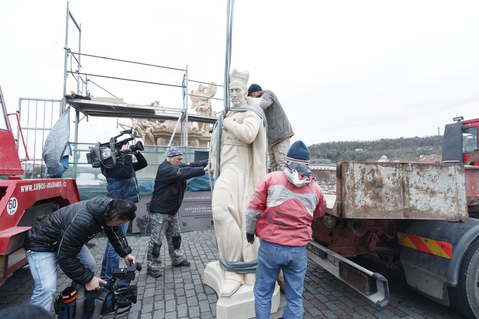
[[[44,308],[48,312],[51,307],[51,297],[56,290],[56,268],[57,268],[57,252],[43,251],[25,251],[26,260],[30,266],[30,272],[33,276],[35,289],[30,299],[31,305]],[[88,248],[83,245],[78,253],[78,258],[90,270],[95,270],[96,261]],[[72,281],[72,286],[75,286]]]

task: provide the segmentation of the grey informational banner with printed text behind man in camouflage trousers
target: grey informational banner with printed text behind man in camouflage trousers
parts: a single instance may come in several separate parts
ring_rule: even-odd
[[[148,208],[151,193],[141,194],[137,204],[136,218],[133,220],[132,233],[149,234]],[[185,192],[183,203],[178,210],[181,230],[214,229],[213,213],[211,211],[211,191]]]

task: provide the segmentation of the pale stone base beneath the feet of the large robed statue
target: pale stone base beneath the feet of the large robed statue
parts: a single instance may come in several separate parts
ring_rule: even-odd
[[[218,295],[216,302],[217,319],[248,319],[255,318],[255,296],[253,286],[241,285],[238,290],[229,297],[219,295],[221,286],[224,283],[224,271],[219,261],[213,261],[206,265],[203,273],[203,283],[215,290]],[[278,283],[274,287],[271,298],[271,313],[278,311],[280,305],[280,289]]]

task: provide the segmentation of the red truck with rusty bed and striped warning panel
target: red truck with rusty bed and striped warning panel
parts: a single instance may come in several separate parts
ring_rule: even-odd
[[[399,261],[413,289],[479,318],[479,118],[454,120],[443,163],[340,162],[317,172],[335,192],[326,191],[308,256],[378,306],[388,303],[387,280],[350,257]]]

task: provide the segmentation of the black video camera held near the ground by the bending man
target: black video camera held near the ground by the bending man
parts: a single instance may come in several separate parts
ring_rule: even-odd
[[[137,285],[130,282],[135,279],[135,271],[141,271],[142,264],[136,263],[113,271],[109,283],[100,285],[98,291],[84,291],[81,287],[78,292],[74,287],[67,287],[55,299],[55,314],[58,319],[97,319],[115,312],[116,315],[130,310],[132,303],[137,301]],[[83,296],[81,296],[83,295]],[[76,311],[82,311],[80,317]],[[126,308],[118,312],[119,309]]]

